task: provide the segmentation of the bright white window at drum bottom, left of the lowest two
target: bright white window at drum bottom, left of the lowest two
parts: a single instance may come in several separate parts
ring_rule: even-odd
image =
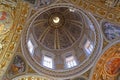
[[[53,68],[53,60],[49,56],[43,57],[43,65],[48,68]]]

